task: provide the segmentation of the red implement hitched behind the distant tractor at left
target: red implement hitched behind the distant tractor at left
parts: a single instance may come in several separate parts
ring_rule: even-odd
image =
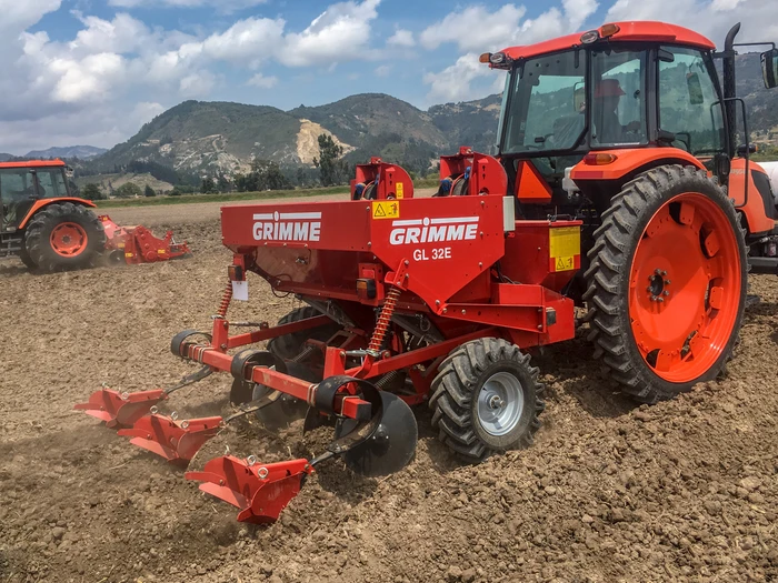
[[[164,239],[159,239],[146,227],[119,227],[106,214],[99,219],[106,230],[106,249],[117,262],[121,261],[123,255],[123,260],[129,264],[154,263],[180,258],[190,252],[186,241],[176,242],[172,231],[168,231]]]

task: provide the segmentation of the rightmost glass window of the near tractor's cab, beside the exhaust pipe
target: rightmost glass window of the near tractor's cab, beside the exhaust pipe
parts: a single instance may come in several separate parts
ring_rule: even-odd
[[[672,145],[692,155],[724,152],[724,113],[710,61],[680,47],[662,47],[660,54],[659,128],[672,134]]]

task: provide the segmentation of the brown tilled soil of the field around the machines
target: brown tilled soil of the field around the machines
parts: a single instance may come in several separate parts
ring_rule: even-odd
[[[255,527],[72,410],[102,382],[136,391],[191,372],[170,339],[210,328],[230,261],[210,207],[111,214],[174,227],[193,257],[46,275],[0,263],[0,581],[778,582],[775,277],[751,277],[762,301],[720,381],[638,408],[576,340],[536,360],[547,411],[530,450],[461,465],[420,406],[406,470],[369,480],[325,465],[278,523]],[[295,306],[250,284],[236,316]],[[166,410],[226,413],[228,388],[213,375]],[[267,461],[320,452],[297,435],[242,423],[192,465],[227,446]]]

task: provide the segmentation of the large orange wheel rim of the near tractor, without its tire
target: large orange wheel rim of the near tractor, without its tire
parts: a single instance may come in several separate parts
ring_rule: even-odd
[[[740,310],[742,265],[724,211],[696,192],[651,218],[629,282],[629,316],[644,360],[668,382],[690,382],[719,359]]]

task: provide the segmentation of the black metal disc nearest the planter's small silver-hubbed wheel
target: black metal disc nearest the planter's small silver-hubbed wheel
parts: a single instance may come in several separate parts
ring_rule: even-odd
[[[389,475],[402,470],[413,459],[419,429],[411,409],[399,396],[381,392],[383,415],[372,438],[342,455],[346,465],[367,476]],[[339,420],[336,439],[351,431],[353,420]]]

